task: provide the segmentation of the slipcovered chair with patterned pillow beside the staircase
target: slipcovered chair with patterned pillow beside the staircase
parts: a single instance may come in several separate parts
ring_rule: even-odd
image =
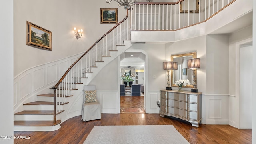
[[[84,86],[84,103],[82,109],[82,119],[87,122],[89,120],[101,119],[101,106],[96,98],[96,86]]]

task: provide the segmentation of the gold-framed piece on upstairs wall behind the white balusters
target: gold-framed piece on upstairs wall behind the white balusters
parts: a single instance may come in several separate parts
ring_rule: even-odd
[[[188,7],[189,6],[189,7]],[[189,9],[188,9],[189,8]],[[199,12],[199,0],[184,0],[183,2],[180,2],[180,13],[195,13]]]

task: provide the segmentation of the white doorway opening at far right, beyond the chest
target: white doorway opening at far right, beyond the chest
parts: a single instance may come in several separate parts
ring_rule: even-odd
[[[252,129],[252,39],[236,43],[236,128]]]

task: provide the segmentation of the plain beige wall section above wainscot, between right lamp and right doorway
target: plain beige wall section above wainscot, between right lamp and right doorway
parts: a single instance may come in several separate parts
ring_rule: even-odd
[[[228,94],[228,34],[206,38],[206,94]]]

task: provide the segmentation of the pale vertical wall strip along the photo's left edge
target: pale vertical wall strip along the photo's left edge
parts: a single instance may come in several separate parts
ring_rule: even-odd
[[[0,1],[0,143],[13,144],[12,139],[2,136],[13,136],[13,1]],[[4,69],[3,69],[4,68]]]

